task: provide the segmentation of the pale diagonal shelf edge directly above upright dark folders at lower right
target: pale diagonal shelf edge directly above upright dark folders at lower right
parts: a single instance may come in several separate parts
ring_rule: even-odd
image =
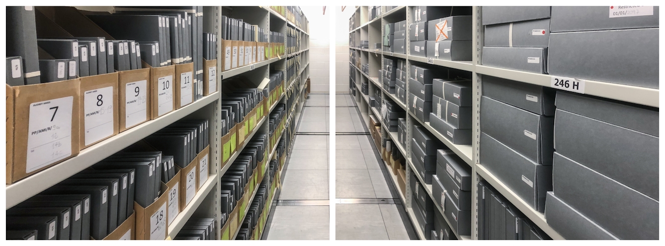
[[[501,195],[503,195],[508,201],[513,203],[519,211],[524,213],[524,215],[527,215],[533,223],[535,223],[540,229],[545,231],[547,235],[549,235],[552,239],[555,240],[563,240],[564,238],[557,233],[552,227],[550,227],[547,224],[547,220],[545,219],[545,214],[540,213],[539,211],[535,211],[531,205],[527,204],[523,199],[519,198],[515,192],[513,192],[511,189],[509,189],[503,182],[499,181],[496,177],[494,177],[493,174],[491,174],[485,167],[483,167],[480,164],[475,165],[475,172],[479,174],[483,180],[486,180],[487,183],[492,185],[494,189],[499,191]]]

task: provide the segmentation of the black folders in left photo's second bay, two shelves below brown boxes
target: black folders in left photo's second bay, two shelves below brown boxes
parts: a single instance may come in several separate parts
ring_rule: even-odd
[[[257,164],[263,162],[268,148],[267,134],[255,134],[221,176],[221,213],[231,214],[237,201],[245,195],[245,186],[252,177]],[[225,223],[225,221],[222,221]]]

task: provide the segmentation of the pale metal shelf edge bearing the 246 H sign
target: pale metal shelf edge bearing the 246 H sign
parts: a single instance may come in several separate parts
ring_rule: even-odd
[[[475,66],[475,72],[489,76],[507,78],[509,80],[517,80],[529,84],[551,87],[552,76],[549,74],[521,72],[481,65]],[[585,94],[659,108],[658,89],[593,80],[582,81],[585,82]]]

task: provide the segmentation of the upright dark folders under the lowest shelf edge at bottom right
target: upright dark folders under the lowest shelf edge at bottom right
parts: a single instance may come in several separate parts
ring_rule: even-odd
[[[551,240],[484,180],[478,183],[479,240]]]

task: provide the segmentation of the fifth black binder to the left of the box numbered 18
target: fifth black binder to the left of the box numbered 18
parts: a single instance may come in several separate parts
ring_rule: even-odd
[[[67,204],[67,203],[72,203],[72,204],[80,204],[80,207],[76,206],[74,207],[74,211],[76,209],[80,210],[80,239],[81,240],[90,240],[90,217],[91,217],[91,211],[90,211],[90,195],[87,194],[79,194],[79,195],[35,195],[33,197],[30,197],[27,201],[23,202],[26,205],[30,205],[31,202],[37,201],[37,202],[48,202],[49,204],[59,206],[60,204]],[[23,204],[21,203],[21,204]],[[72,206],[73,207],[73,206]],[[76,212],[74,212],[74,220],[76,220]],[[71,230],[70,230],[71,231]]]

